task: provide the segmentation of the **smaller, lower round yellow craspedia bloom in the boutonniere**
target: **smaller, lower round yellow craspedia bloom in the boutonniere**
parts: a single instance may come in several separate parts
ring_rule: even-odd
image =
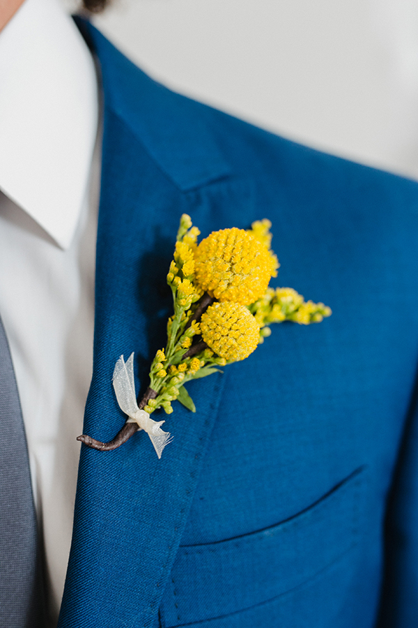
[[[258,345],[260,328],[249,310],[238,303],[214,303],[201,317],[208,347],[226,360],[243,360]]]

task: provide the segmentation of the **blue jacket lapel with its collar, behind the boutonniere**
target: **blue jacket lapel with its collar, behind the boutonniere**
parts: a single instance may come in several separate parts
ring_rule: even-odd
[[[177,103],[176,119],[171,92],[160,92],[162,88],[155,83],[148,84],[150,80],[133,70],[97,31],[86,24],[82,27],[88,28],[93,38],[104,84],[94,364],[84,431],[109,440],[125,421],[111,387],[116,359],[135,352],[139,392],[148,383],[153,353],[165,343],[171,302],[164,284],[180,214],[187,211],[196,217],[196,223],[210,228],[214,207],[222,214],[225,202],[247,204],[248,198],[242,196],[240,185],[226,179],[216,183],[225,177],[227,166],[200,123],[178,142],[176,133],[187,116],[187,111],[180,111],[182,101],[176,100],[180,97],[172,95]],[[134,80],[140,85],[132,84]],[[159,119],[151,119],[144,102],[139,107],[140,119],[123,110],[123,90],[130,107],[132,92],[137,91],[141,98],[148,98],[148,105],[150,100],[158,103]],[[164,98],[169,101],[165,107]],[[167,111],[172,128],[163,150]],[[192,123],[191,116],[188,122]],[[154,135],[153,128],[157,128]],[[193,147],[187,146],[188,142],[202,146],[206,142],[206,148],[195,151],[200,160],[189,162],[187,151],[193,154]],[[196,182],[210,181],[207,191],[191,191]],[[167,421],[173,442],[160,461],[143,432],[113,452],[82,447],[60,628],[154,625],[223,381],[222,375],[216,374],[193,382],[196,414],[176,403]]]

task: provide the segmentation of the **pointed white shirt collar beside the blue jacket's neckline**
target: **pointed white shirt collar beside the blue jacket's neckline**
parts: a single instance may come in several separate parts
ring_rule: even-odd
[[[0,33],[0,189],[68,248],[98,128],[91,53],[59,0],[25,0]]]

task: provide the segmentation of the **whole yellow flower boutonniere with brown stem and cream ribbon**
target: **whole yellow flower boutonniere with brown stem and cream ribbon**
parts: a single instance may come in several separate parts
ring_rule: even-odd
[[[113,385],[127,414],[125,426],[107,443],[87,435],[77,440],[109,451],[144,430],[161,458],[170,434],[161,428],[164,421],[154,421],[150,415],[160,408],[171,414],[175,400],[196,412],[187,382],[249,357],[270,336],[272,323],[288,320],[307,325],[331,315],[329,307],[304,301],[293,288],[269,287],[279,268],[270,248],[270,227],[270,220],[256,220],[249,230],[222,229],[198,244],[199,229],[183,214],[167,275],[174,312],[167,323],[167,345],[151,364],[148,389],[137,403],[134,354],[126,362],[121,356]]]

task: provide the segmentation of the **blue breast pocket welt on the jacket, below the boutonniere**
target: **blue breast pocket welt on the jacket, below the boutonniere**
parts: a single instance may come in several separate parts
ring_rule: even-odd
[[[164,592],[164,627],[236,613],[309,581],[357,544],[366,467],[295,516],[217,543],[180,546]]]

